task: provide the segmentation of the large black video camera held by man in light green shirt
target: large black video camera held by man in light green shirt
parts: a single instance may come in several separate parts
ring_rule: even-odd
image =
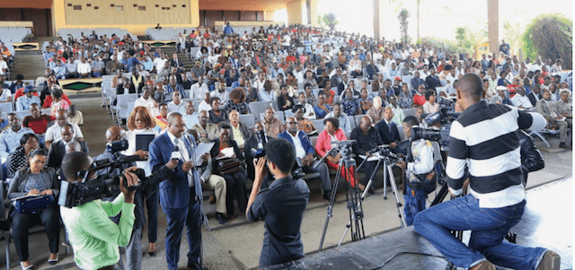
[[[128,149],[128,141],[126,140],[106,144],[106,149],[112,152],[112,158],[95,161],[90,170],[78,171],[78,177],[82,178],[82,181],[61,181],[58,205],[71,208],[102,197],[119,194],[119,183],[125,180],[124,176],[119,175],[120,171],[123,170],[125,164],[138,161],[140,158],[138,155],[123,156],[119,154],[120,151]],[[138,168],[130,172],[137,175],[138,185],[128,187],[129,191],[146,185],[147,178],[144,170]],[[96,179],[90,180],[89,176],[93,173],[100,173],[100,175]]]

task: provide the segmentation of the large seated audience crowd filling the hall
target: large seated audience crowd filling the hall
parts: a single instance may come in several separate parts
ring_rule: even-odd
[[[57,170],[66,152],[88,152],[84,139],[89,137],[84,138],[81,131],[82,112],[58,83],[72,78],[111,76],[111,84],[105,87],[110,87],[114,96],[137,94],[137,100],[133,100],[135,109],[128,114],[126,123],[127,154],[136,153],[147,159],[147,153],[137,152],[133,145],[134,135],[165,132],[172,112],[181,113],[188,132],[198,142],[216,142],[210,152],[214,176],[218,176],[220,166],[217,158],[226,155],[222,150],[233,148],[229,155],[245,162],[247,170],[219,173],[222,177],[212,178],[207,184],[216,190],[210,203],[217,203],[216,218],[222,224],[237,217],[234,199],[240,213],[245,211],[247,180],[253,178],[251,150],[261,143],[259,131],[291,140],[301,167],[306,172],[320,172],[323,197],[329,199],[326,194],[331,182],[326,171],[328,167],[336,169],[341,156],[331,156],[328,167],[312,170],[314,156],[321,158],[331,149],[330,142],[353,138],[354,129],[369,126],[375,127],[379,135],[373,136],[383,144],[397,144],[397,126],[401,127],[403,118],[414,115],[421,125],[427,126],[424,116],[437,112],[445,100],[455,100],[458,80],[468,73],[482,77],[485,100],[541,113],[548,121],[546,130],[560,135],[559,147],[571,149],[571,73],[565,75],[562,71],[562,59],[519,60],[509,54],[505,40],[500,54],[483,54],[477,60],[443,48],[298,25],[254,28],[243,33],[226,28],[221,34],[199,27],[190,32],[184,30],[174,39],[177,51],[193,61],[190,68],[182,64],[177,53],[168,56],[161,48],[133,40],[129,35],[98,36],[97,30],[89,36],[50,41],[43,52],[46,74],[35,84],[24,82],[21,74],[7,84],[7,65],[0,57],[0,85],[4,89],[0,102],[13,102],[16,111],[30,111],[25,118],[7,111],[7,119],[0,122],[4,128],[0,134],[0,156],[6,160],[7,180],[13,179],[9,193],[14,195],[9,197],[40,187],[55,187],[42,178],[32,178],[33,188],[19,184],[28,173],[46,171],[44,178],[54,173],[35,166],[36,163],[43,161],[46,167]],[[267,102],[267,106],[254,111],[260,107],[251,103],[262,102]],[[244,123],[243,115],[253,115],[255,125]],[[356,116],[365,118],[355,125]],[[316,126],[321,119],[325,131]],[[243,161],[245,158],[247,161]],[[138,167],[145,168],[149,175],[149,161],[138,162]],[[365,188],[365,181],[352,172],[345,176],[352,185]],[[210,179],[210,173],[206,178]],[[150,230],[157,230],[157,204],[155,209],[148,206],[148,211],[156,215]],[[21,226],[21,220],[14,224]],[[49,222],[53,223],[47,220],[44,225],[54,226]],[[47,231],[52,238],[58,237],[54,230]],[[149,237],[148,249],[155,252],[155,232]],[[18,243],[20,260],[28,261],[22,267],[29,265],[27,237],[16,233],[14,242]],[[49,245],[50,259],[57,260],[52,239]]]

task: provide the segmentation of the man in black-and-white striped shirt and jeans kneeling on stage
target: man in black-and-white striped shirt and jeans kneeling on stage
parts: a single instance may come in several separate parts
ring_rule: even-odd
[[[457,84],[463,114],[452,124],[447,158],[449,191],[469,193],[435,205],[415,217],[413,226],[459,267],[495,269],[559,269],[561,257],[545,248],[525,248],[503,241],[525,210],[518,128],[539,130],[545,119],[536,113],[482,100],[477,74],[465,74]],[[465,171],[469,171],[469,176]],[[471,230],[469,245],[449,231]]]

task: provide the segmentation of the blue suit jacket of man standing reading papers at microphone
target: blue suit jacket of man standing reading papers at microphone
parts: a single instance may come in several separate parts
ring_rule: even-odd
[[[193,140],[193,138],[191,138]],[[185,140],[184,140],[185,141]],[[186,142],[188,144],[188,142]],[[190,152],[190,145],[188,151]],[[178,161],[178,166],[173,170],[165,167],[165,163],[170,161],[173,152],[172,140],[168,132],[155,137],[150,144],[150,166],[152,174],[159,179],[163,179],[158,185],[160,194],[160,204],[164,208],[184,208],[190,205],[190,187],[188,186],[188,177],[181,170],[183,162]]]

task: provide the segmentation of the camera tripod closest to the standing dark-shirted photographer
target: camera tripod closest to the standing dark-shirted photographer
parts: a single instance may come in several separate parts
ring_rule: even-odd
[[[344,177],[346,177],[347,179],[349,179],[350,177],[351,174],[350,171],[354,171],[354,173],[356,172],[355,170],[356,161],[353,159],[354,154],[351,151],[351,144],[353,143],[355,143],[355,141],[333,143],[337,145],[337,148],[333,148],[330,152],[325,154],[322,160],[320,160],[320,162],[323,161],[323,159],[325,159],[328,155],[336,151],[341,154],[341,159],[338,162],[338,171],[335,175],[335,182],[332,187],[332,194],[330,196],[330,205],[328,205],[327,207],[327,216],[325,217],[325,224],[323,225],[322,240],[320,240],[320,247],[318,249],[319,251],[322,251],[323,240],[325,240],[325,233],[327,232],[327,226],[330,222],[330,218],[333,216],[332,214],[333,204],[335,203],[335,196],[337,194],[337,190],[339,187],[342,170],[344,170],[343,171],[343,173],[345,174]],[[355,177],[357,178],[357,174],[355,175]],[[366,238],[366,233],[363,227],[364,214],[363,214],[363,206],[361,205],[362,200],[360,199],[358,188],[352,187],[350,182],[346,187],[346,200],[348,201],[347,208],[349,210],[349,223],[346,224],[346,229],[343,232],[343,235],[341,236],[341,240],[338,244],[338,247],[341,246],[341,242],[343,241],[343,238],[345,238],[345,235],[348,233],[348,231],[351,232],[352,241],[362,240]]]

